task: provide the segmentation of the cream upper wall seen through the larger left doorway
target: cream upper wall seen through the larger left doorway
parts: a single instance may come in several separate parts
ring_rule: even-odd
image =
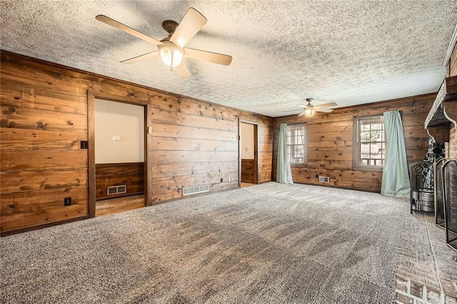
[[[95,100],[95,163],[144,161],[144,107]]]

